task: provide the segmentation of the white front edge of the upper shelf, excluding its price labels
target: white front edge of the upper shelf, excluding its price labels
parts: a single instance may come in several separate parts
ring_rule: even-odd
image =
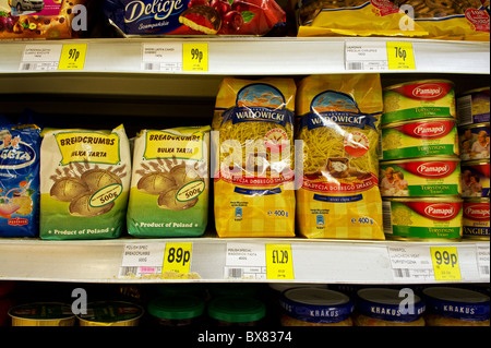
[[[419,73],[490,73],[489,43],[406,38],[124,38],[49,41],[0,41],[0,73],[20,71],[26,45],[87,44],[85,67],[77,73],[149,73],[142,70],[143,44],[208,44],[208,71],[200,75],[304,75],[345,72],[347,41],[410,41]],[[364,71],[356,71],[364,72]],[[390,71],[400,72],[400,71]],[[29,72],[33,73],[33,72]],[[37,73],[37,72],[36,72]],[[57,73],[64,73],[57,71]],[[158,73],[157,74],[161,74]]]

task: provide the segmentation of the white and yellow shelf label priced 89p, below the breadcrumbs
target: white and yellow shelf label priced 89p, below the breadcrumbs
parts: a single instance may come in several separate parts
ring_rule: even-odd
[[[191,272],[193,243],[124,244],[119,278],[159,276],[165,273],[185,275]]]

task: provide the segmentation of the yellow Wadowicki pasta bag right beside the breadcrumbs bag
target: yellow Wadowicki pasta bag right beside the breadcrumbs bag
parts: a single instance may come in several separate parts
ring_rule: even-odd
[[[215,221],[219,237],[294,237],[291,79],[225,79],[215,106]]]

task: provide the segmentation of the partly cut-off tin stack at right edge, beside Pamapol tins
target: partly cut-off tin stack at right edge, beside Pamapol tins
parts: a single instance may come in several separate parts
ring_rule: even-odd
[[[457,99],[462,158],[464,237],[489,240],[490,232],[490,88],[472,89]]]

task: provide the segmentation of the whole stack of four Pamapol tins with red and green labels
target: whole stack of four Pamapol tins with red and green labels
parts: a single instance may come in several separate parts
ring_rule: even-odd
[[[384,88],[380,189],[387,239],[462,238],[456,113],[451,81],[415,81]]]

